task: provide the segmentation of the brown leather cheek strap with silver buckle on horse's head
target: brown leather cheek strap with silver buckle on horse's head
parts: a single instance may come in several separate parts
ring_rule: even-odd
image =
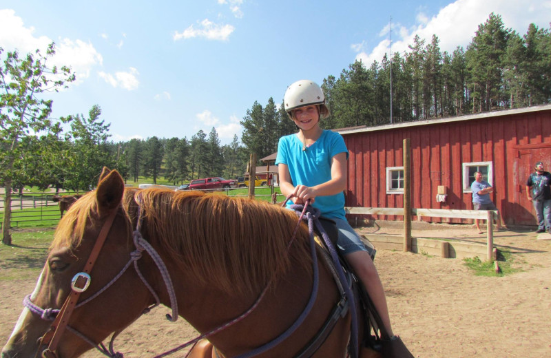
[[[43,335],[41,339],[41,346],[48,344],[48,348],[46,348],[42,352],[43,358],[58,357],[56,350],[59,344],[59,340],[65,332],[65,328],[67,328],[67,324],[69,323],[69,319],[73,313],[74,306],[76,305],[76,302],[79,301],[81,293],[86,291],[86,289],[90,285],[90,272],[92,271],[92,268],[96,263],[105,239],[107,239],[107,234],[109,233],[113,221],[115,220],[116,211],[116,209],[112,209],[109,217],[103,223],[103,227],[101,228],[92,252],[90,252],[90,256],[86,261],[83,271],[74,275],[71,282],[71,293],[69,294],[67,299],[65,299],[65,303],[63,303],[59,314],[57,315],[56,319],[54,319],[54,322],[52,322],[52,324],[50,325],[50,329],[45,333],[45,335]]]

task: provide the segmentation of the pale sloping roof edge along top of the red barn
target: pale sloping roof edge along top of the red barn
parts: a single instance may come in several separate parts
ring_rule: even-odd
[[[392,125],[377,125],[375,127],[367,127],[366,125],[357,126],[357,127],[348,127],[348,128],[338,128],[333,129],[333,131],[336,131],[337,133],[340,133],[341,135],[346,134],[355,134],[355,133],[364,133],[368,131],[383,131],[386,129],[397,129],[397,128],[405,128],[405,127],[417,127],[420,125],[434,125],[438,123],[450,123],[450,122],[461,122],[464,120],[480,120],[480,119],[487,119],[487,118],[494,118],[499,116],[510,116],[513,114],[523,114],[523,113],[529,113],[529,112],[539,112],[539,111],[545,111],[551,109],[551,105],[537,105],[532,107],[524,107],[524,108],[515,108],[515,109],[503,109],[500,111],[492,111],[492,112],[482,112],[477,114],[467,114],[464,116],[454,116],[454,117],[446,117],[446,118],[437,118],[437,119],[428,119],[428,120],[413,120],[410,122],[404,122],[404,123],[395,123]]]

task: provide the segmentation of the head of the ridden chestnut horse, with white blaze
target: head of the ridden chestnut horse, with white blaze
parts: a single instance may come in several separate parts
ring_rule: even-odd
[[[59,343],[53,355],[46,356],[78,357],[93,348],[91,344],[98,344],[134,322],[151,304],[149,291],[136,283],[139,278],[134,271],[125,271],[123,280],[110,285],[134,249],[129,216],[121,207],[123,196],[123,178],[117,171],[104,168],[96,191],[76,201],[74,209],[61,219],[37,286],[25,299],[28,304],[2,350],[3,358],[43,355],[47,349],[45,337],[53,334],[52,313],[63,308],[67,297],[74,293],[72,278],[82,277],[79,273],[83,273],[91,260],[90,253],[110,217],[113,222],[110,229],[103,229],[108,233],[90,271],[90,286],[80,293],[78,304],[66,318],[67,329],[61,337],[54,338]]]

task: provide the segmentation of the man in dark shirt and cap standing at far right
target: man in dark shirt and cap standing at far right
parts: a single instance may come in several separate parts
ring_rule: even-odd
[[[543,162],[537,162],[536,171],[531,173],[526,182],[526,196],[532,200],[536,210],[537,233],[551,233],[551,173],[543,171]],[[530,196],[531,194],[531,196]]]

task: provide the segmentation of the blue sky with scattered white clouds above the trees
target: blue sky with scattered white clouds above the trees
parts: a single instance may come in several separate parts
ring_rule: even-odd
[[[52,116],[100,105],[112,140],[240,138],[255,101],[280,104],[299,79],[321,84],[355,59],[405,52],[415,34],[441,50],[466,47],[490,12],[525,34],[550,28],[551,0],[19,1],[0,3],[0,47],[21,53],[56,43],[55,63],[77,81],[54,94]]]

